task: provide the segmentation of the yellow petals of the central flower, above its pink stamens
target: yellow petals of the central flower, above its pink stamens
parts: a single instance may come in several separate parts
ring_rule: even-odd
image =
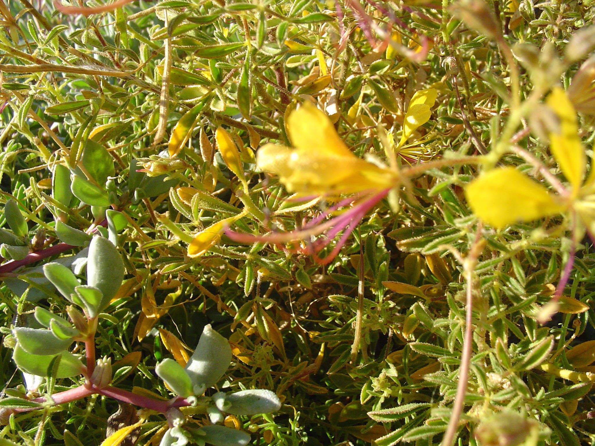
[[[305,102],[287,118],[291,149],[267,144],[256,164],[278,175],[287,190],[300,194],[350,194],[395,186],[396,175],[355,156],[340,139],[328,117]]]

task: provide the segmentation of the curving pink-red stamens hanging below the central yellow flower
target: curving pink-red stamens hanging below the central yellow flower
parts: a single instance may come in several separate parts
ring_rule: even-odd
[[[255,243],[258,241],[264,241],[266,243],[285,244],[289,243],[290,241],[304,240],[306,241],[307,246],[300,251],[313,256],[314,259],[321,265],[326,265],[337,256],[343,245],[345,245],[349,235],[351,235],[353,230],[355,230],[366,213],[368,213],[370,209],[377,205],[380,200],[386,197],[388,193],[389,189],[386,189],[380,193],[368,195],[365,197],[365,199],[360,200],[355,206],[353,206],[353,208],[322,223],[322,220],[330,215],[330,213],[336,211],[336,209],[342,206],[352,203],[357,199],[357,197],[350,197],[345,200],[341,200],[339,203],[337,203],[337,205],[327,209],[325,212],[322,212],[320,215],[316,216],[311,221],[303,225],[301,229],[296,231],[290,231],[288,233],[253,235],[226,230],[226,234],[231,238],[231,240],[239,241],[241,243]],[[311,237],[321,235],[325,233],[325,231],[327,231],[327,233],[323,238],[316,241],[309,241]],[[339,238],[339,241],[330,254],[322,259],[318,257],[318,253],[320,253],[324,247],[328,246],[328,244],[330,244],[340,233],[343,234]]]

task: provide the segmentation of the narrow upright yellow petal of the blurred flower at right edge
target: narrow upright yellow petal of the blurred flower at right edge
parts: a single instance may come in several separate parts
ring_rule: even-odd
[[[550,150],[560,169],[577,191],[585,173],[585,150],[578,136],[577,114],[562,88],[555,87],[547,98],[547,105],[560,118],[560,131],[550,133]]]

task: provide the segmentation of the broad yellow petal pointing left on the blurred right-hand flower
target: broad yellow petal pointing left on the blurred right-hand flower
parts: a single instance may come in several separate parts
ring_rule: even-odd
[[[562,210],[545,187],[513,167],[480,175],[466,187],[465,196],[475,215],[496,228]]]

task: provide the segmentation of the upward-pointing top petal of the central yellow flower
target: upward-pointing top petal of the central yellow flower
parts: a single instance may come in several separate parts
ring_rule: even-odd
[[[298,149],[316,152],[321,156],[356,158],[339,138],[327,115],[310,102],[304,102],[300,108],[289,115],[287,128],[289,138]]]

